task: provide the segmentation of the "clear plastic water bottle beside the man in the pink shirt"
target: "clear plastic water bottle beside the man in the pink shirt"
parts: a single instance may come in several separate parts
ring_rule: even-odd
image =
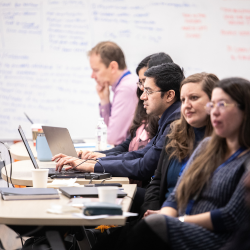
[[[107,149],[107,126],[104,119],[98,119],[96,127],[96,150],[103,151]]]

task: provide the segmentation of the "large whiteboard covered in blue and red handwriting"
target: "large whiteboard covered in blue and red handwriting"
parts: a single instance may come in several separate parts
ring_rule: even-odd
[[[94,137],[99,98],[87,52],[116,42],[135,73],[166,52],[185,74],[250,79],[249,0],[0,0],[0,139],[35,123]]]

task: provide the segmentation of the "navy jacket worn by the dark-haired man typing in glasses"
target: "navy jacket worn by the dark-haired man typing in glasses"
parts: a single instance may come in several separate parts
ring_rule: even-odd
[[[150,180],[157,167],[170,124],[180,118],[180,106],[181,103],[177,101],[165,110],[158,122],[159,127],[156,136],[145,148],[117,156],[99,158],[105,172],[112,176],[128,177],[134,180]],[[96,164],[94,172],[101,173],[103,171],[102,166]]]

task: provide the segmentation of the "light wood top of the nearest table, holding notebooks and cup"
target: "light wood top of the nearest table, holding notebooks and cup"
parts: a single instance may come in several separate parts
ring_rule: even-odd
[[[127,197],[123,199],[123,211],[129,211],[132,199],[136,192],[136,185],[123,185]],[[59,200],[20,200],[4,201],[0,199],[0,224],[9,225],[53,225],[53,226],[80,226],[80,225],[124,225],[126,218],[123,216],[112,216],[98,220],[86,220],[74,217],[71,213],[50,214],[46,210],[51,204],[65,205],[69,199],[60,194]],[[79,209],[79,213],[82,210]]]

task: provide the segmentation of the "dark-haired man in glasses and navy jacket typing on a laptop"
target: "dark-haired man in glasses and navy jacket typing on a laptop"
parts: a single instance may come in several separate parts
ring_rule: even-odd
[[[77,169],[84,172],[105,172],[112,176],[129,177],[135,180],[147,181],[154,174],[160,153],[164,145],[170,123],[180,118],[180,83],[184,79],[181,68],[175,63],[165,63],[149,68],[145,74],[146,81],[141,100],[148,115],[160,118],[156,136],[142,150],[132,151],[116,156],[99,158],[95,161],[84,162],[81,159],[59,154],[52,160],[58,159],[56,168],[70,169],[80,164]],[[82,163],[82,164],[81,164]]]

